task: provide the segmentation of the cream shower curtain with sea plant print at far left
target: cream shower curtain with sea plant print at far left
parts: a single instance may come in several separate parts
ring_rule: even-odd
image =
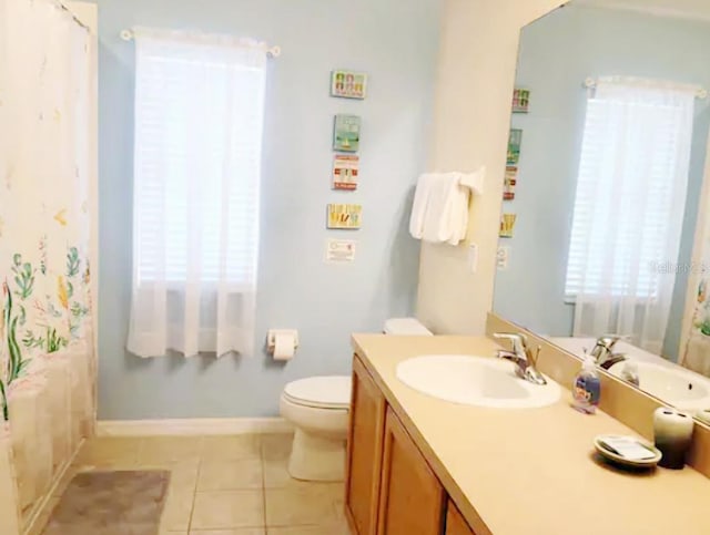
[[[0,0],[0,533],[27,524],[95,422],[91,35]]]

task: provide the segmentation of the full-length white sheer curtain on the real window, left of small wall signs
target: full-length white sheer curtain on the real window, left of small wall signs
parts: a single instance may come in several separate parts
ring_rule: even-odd
[[[254,338],[266,50],[135,30],[128,349],[248,354]]]

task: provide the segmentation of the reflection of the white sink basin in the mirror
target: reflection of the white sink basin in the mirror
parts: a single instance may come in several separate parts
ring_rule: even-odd
[[[641,390],[663,400],[676,409],[696,412],[710,408],[710,382],[681,368],[636,361]],[[621,377],[625,362],[609,368],[613,375]]]

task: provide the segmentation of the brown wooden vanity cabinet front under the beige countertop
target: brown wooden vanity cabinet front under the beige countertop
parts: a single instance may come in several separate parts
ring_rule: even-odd
[[[353,535],[475,535],[357,357],[346,472]]]

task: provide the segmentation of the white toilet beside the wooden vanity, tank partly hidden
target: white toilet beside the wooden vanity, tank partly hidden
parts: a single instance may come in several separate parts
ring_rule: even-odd
[[[432,336],[414,318],[385,321],[385,335]],[[351,410],[352,378],[325,375],[298,379],[284,387],[281,415],[295,429],[288,473],[303,481],[343,481]]]

